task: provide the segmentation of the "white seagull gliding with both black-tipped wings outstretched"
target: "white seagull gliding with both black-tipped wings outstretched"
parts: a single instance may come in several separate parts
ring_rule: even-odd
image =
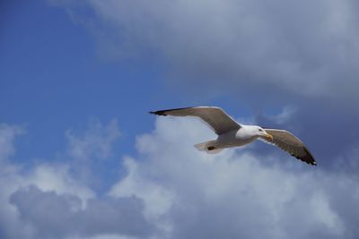
[[[236,122],[221,107],[184,107],[151,111],[153,115],[197,116],[217,135],[213,141],[198,143],[195,147],[208,153],[217,153],[226,148],[243,146],[255,140],[275,144],[293,157],[316,166],[311,152],[291,132],[276,129],[263,129],[258,125],[244,125]]]

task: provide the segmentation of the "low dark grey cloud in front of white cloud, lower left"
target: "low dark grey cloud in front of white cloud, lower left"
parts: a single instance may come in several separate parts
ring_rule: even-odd
[[[37,232],[37,238],[103,233],[141,237],[152,229],[144,219],[142,201],[135,197],[90,199],[83,208],[75,195],[42,192],[31,186],[14,192],[10,203],[18,209],[22,221]]]

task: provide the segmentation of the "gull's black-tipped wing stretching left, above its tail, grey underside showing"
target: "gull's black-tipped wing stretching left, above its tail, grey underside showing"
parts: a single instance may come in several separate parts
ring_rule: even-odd
[[[197,116],[208,124],[208,126],[218,135],[241,128],[241,124],[238,124],[235,120],[233,120],[232,117],[227,115],[227,113],[225,113],[220,107],[173,108],[152,111],[150,113],[164,116]]]

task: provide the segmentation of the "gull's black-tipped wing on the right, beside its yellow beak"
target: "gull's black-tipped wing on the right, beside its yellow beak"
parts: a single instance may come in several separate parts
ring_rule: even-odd
[[[301,159],[307,164],[317,165],[309,149],[291,132],[276,129],[265,129],[265,131],[273,136],[273,141],[266,140],[267,142],[274,143],[279,148],[290,153],[293,157]]]

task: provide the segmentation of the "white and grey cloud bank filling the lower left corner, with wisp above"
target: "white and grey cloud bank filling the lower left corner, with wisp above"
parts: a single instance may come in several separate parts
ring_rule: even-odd
[[[113,139],[118,137],[117,124],[95,125],[84,137],[71,134],[69,149],[78,141],[90,150],[90,156],[108,156]],[[1,238],[136,239],[153,234],[155,227],[144,218],[142,199],[99,195],[88,181],[75,174],[71,161],[26,168],[12,163],[18,132],[22,132],[21,127],[5,124],[0,131],[0,151],[5,152],[0,161]],[[85,164],[82,168],[89,169]]]

